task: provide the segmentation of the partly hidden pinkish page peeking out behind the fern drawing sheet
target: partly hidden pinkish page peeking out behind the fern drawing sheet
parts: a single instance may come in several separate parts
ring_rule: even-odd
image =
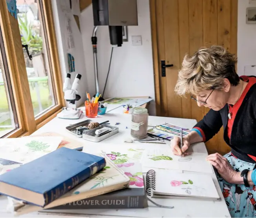
[[[40,133],[38,135],[30,135],[28,137],[38,137],[38,136],[59,136],[59,137],[63,137],[63,139],[60,142],[58,148],[65,147],[65,148],[75,149],[75,148],[80,148],[80,147],[83,146],[82,142],[79,142],[75,139],[68,138],[64,135],[61,135],[61,134],[57,133],[57,132],[45,132],[45,133]]]

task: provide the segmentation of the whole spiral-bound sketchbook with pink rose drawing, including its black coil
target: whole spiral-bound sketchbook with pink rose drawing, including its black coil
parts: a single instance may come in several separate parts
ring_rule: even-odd
[[[146,193],[152,198],[220,198],[210,175],[166,169],[151,169],[146,173]]]

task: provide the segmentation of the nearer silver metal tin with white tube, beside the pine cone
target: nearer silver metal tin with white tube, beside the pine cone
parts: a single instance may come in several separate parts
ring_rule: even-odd
[[[104,132],[101,135],[96,135],[95,131],[98,129],[101,129],[102,127],[109,127],[111,128],[110,131]],[[94,128],[93,130],[86,130],[82,133],[82,138],[91,142],[100,142],[104,139],[107,139],[108,137],[115,135],[119,132],[119,129],[116,126],[111,126],[108,124],[102,124],[101,126],[98,126],[97,128]]]

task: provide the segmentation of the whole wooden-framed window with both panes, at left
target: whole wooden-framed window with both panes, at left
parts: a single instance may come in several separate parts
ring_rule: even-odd
[[[65,105],[51,0],[0,1],[0,137],[30,135]],[[29,58],[29,56],[32,56]]]

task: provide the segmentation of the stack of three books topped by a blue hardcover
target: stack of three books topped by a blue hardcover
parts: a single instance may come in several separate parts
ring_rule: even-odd
[[[130,168],[117,166],[104,153],[65,147],[0,175],[0,194],[13,200],[16,215],[47,209],[147,206],[139,162]]]

